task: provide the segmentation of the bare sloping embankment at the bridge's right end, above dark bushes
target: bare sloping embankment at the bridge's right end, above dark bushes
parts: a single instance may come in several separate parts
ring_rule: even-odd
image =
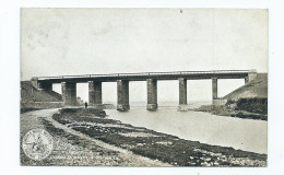
[[[252,97],[268,97],[268,73],[258,73],[257,79],[227,94],[223,100],[237,101]]]

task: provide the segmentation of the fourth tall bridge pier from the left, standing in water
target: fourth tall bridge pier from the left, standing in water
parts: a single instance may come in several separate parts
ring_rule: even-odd
[[[147,110],[157,109],[157,81],[147,79]]]

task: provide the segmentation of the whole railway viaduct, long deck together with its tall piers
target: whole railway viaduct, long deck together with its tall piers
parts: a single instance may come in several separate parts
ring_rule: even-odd
[[[248,83],[257,77],[256,70],[213,70],[213,71],[176,71],[176,72],[141,72],[141,73],[111,73],[111,74],[84,74],[60,77],[32,78],[32,84],[46,91],[52,91],[54,83],[61,83],[62,100],[66,106],[76,105],[76,83],[88,83],[88,103],[93,106],[102,106],[102,83],[117,82],[117,109],[128,110],[129,81],[146,81],[147,110],[157,109],[157,81],[178,80],[179,106],[187,105],[187,81],[212,80],[213,104],[217,97],[218,79],[245,79]]]

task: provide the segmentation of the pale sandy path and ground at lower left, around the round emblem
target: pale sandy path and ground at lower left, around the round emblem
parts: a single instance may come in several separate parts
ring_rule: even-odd
[[[55,166],[170,166],[157,160],[133,154],[61,125],[51,118],[58,108],[21,114],[21,164]],[[48,126],[48,128],[47,128]],[[32,129],[46,129],[54,138],[54,150],[43,161],[27,158],[22,139]]]

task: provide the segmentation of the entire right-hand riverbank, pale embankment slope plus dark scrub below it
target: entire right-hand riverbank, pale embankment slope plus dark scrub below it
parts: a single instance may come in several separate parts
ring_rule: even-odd
[[[268,120],[268,73],[224,96],[225,105],[203,105],[194,110],[214,115]]]

